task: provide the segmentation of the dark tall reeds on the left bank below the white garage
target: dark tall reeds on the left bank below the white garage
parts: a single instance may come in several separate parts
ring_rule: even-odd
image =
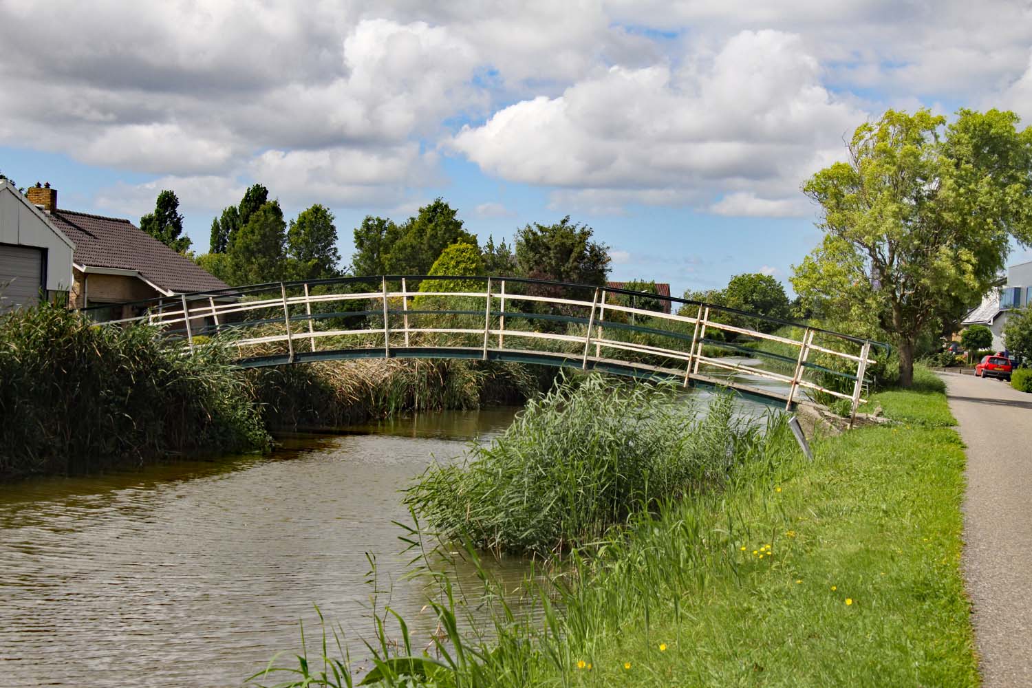
[[[155,334],[46,303],[0,318],[0,474],[267,447],[221,350],[183,356]]]

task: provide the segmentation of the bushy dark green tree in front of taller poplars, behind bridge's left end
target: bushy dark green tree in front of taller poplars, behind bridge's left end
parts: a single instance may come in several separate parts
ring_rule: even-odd
[[[243,214],[241,214],[243,217]],[[251,214],[229,242],[233,285],[278,282],[286,276],[287,225],[278,201]]]

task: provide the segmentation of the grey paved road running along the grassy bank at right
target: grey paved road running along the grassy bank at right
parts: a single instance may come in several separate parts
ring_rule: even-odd
[[[1032,394],[942,378],[968,447],[964,574],[983,686],[1032,686]]]

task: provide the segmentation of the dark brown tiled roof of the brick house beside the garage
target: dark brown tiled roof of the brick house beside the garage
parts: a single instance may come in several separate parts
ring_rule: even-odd
[[[72,260],[78,265],[136,270],[171,292],[228,286],[128,220],[63,209],[55,210],[51,220],[75,244]]]

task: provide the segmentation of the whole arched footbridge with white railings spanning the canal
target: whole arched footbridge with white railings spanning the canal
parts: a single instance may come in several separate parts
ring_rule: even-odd
[[[845,399],[856,416],[883,343],[716,304],[517,277],[381,275],[271,283],[85,309],[147,322],[241,367],[456,358],[727,387],[792,408]]]

